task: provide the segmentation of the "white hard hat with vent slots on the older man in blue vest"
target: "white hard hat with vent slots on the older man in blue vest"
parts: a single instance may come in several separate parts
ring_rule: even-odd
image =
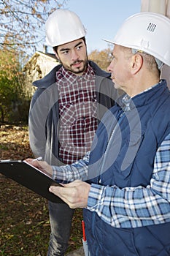
[[[153,12],[140,12],[126,19],[112,41],[144,51],[170,66],[170,19]]]

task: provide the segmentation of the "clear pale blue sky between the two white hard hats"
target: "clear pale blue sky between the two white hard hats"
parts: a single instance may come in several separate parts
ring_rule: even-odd
[[[90,53],[108,47],[102,38],[112,40],[123,21],[140,12],[141,0],[66,0],[64,8],[76,12],[82,20]]]

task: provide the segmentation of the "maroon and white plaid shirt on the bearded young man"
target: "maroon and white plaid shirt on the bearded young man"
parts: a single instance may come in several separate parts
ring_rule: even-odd
[[[56,73],[59,94],[59,157],[64,164],[81,159],[89,150],[97,128],[95,74],[88,64],[85,74],[63,67]]]

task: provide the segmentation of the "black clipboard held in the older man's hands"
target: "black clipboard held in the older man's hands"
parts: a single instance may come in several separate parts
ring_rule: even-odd
[[[48,190],[51,185],[61,185],[27,162],[22,160],[0,160],[0,173],[53,203],[63,203],[60,197]]]

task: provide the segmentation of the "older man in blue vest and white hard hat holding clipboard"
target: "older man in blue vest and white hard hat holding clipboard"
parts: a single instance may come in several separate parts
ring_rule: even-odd
[[[160,80],[170,66],[169,28],[169,18],[151,12],[125,20],[108,67],[125,95],[102,118],[90,155],[45,167],[73,181],[50,192],[85,208],[91,256],[170,255],[170,92]]]

